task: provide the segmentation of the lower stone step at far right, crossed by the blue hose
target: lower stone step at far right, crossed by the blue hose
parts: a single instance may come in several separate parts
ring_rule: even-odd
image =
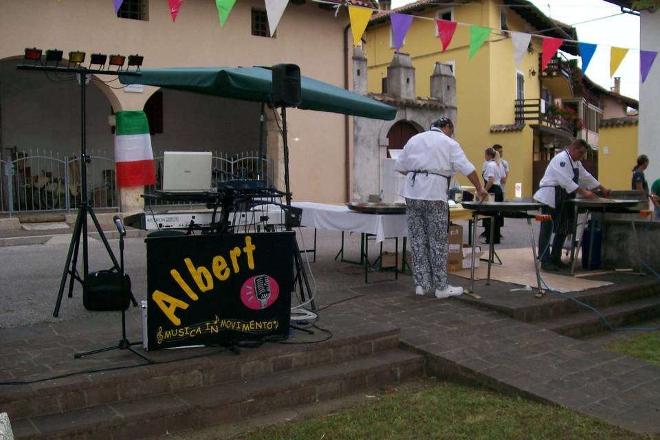
[[[630,326],[660,316],[660,296],[641,298],[608,307],[596,307],[596,309],[613,327]],[[580,313],[538,320],[534,325],[570,338],[581,338],[608,329],[593,311],[584,307]]]

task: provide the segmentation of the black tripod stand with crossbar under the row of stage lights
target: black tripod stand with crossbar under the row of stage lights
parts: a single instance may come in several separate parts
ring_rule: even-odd
[[[74,281],[80,282],[83,285],[83,292],[87,289],[87,276],[89,275],[89,259],[88,259],[88,245],[87,245],[87,214],[94,221],[94,226],[98,231],[101,241],[107,250],[110,259],[112,260],[113,267],[115,270],[120,270],[119,263],[115,258],[110,244],[103,233],[103,230],[98,223],[96,214],[94,214],[94,209],[89,205],[87,199],[87,163],[91,161],[89,156],[87,156],[87,134],[85,132],[86,122],[85,122],[85,109],[86,109],[86,95],[85,95],[85,83],[87,83],[87,78],[90,75],[114,75],[114,76],[140,76],[140,72],[127,72],[127,71],[111,71],[111,70],[102,70],[102,69],[87,69],[87,67],[77,66],[77,67],[60,67],[58,65],[18,65],[17,69],[19,70],[34,70],[38,72],[63,72],[78,74],[80,76],[80,184],[82,186],[82,195],[80,197],[80,205],[78,206],[78,215],[76,217],[76,223],[74,224],[74,233],[71,237],[71,243],[69,243],[69,252],[67,253],[67,262],[64,265],[64,272],[62,274],[62,279],[60,281],[60,288],[57,293],[57,300],[55,303],[55,310],[53,311],[53,316],[58,316],[60,311],[60,305],[62,303],[62,296],[64,293],[64,287],[67,283],[67,277],[71,276],[69,281],[69,298],[72,298],[74,292]],[[80,277],[78,274],[78,250],[80,249],[80,238],[83,239],[83,276]],[[131,293],[131,302],[133,306],[137,306],[137,301]]]

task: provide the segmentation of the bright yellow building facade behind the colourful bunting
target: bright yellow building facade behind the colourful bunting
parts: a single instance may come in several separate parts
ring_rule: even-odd
[[[413,5],[419,3],[423,2]],[[450,3],[448,6],[429,2],[422,10],[399,8],[397,12],[419,17],[412,21],[401,47],[401,52],[410,54],[415,67],[417,96],[429,96],[430,83],[423,79],[430,77],[435,63],[451,63],[456,76],[456,140],[478,169],[481,169],[485,148],[502,144],[505,159],[511,168],[507,199],[514,197],[516,182],[522,183],[522,196],[531,197],[534,142],[539,140],[538,137],[535,140],[535,130],[530,124],[516,126],[516,99],[538,99],[541,96],[539,54],[542,52],[542,40],[531,39],[520,67],[516,68],[511,38],[500,29],[533,33],[539,31],[534,23],[551,28],[554,22],[538,10],[535,14],[538,12],[540,17],[530,20],[529,12],[526,12],[525,19],[516,12],[516,8],[509,8],[498,0],[473,1],[463,5]],[[450,19],[459,23],[445,52],[442,52],[442,43],[437,37],[435,19]],[[470,25],[493,29],[472,60],[468,59]],[[379,20],[375,16],[364,39],[364,52],[369,65],[369,91],[381,93],[387,65],[395,52],[389,19],[384,17]]]

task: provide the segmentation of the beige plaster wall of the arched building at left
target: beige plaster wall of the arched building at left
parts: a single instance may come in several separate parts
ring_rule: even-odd
[[[186,0],[175,23],[165,1],[148,4],[148,21],[138,21],[118,19],[111,1],[3,1],[0,60],[22,57],[25,47],[34,46],[57,48],[65,54],[81,50],[88,57],[94,52],[137,53],[144,55],[144,68],[296,63],[304,76],[344,87],[348,16],[343,9],[335,17],[333,11],[321,10],[315,3],[289,4],[276,38],[270,39],[251,34],[251,10],[263,9],[263,1],[237,1],[224,27],[219,25],[213,1]],[[142,109],[153,91],[145,87],[142,94],[135,94],[104,87],[103,93],[112,109],[119,111]],[[110,114],[110,105],[107,111]],[[344,116],[289,109],[287,122],[294,199],[344,201]],[[222,126],[223,121],[217,124]],[[258,129],[256,119],[254,130]],[[78,144],[79,140],[69,142]]]

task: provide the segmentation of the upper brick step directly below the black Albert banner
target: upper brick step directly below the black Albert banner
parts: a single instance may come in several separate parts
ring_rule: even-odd
[[[309,345],[264,344],[258,349],[244,349],[240,355],[199,349],[206,350],[208,355],[32,385],[6,386],[0,394],[0,408],[11,419],[22,419],[340,362],[395,349],[398,345],[399,329],[384,329],[359,336],[336,335],[331,340]],[[195,350],[189,353],[188,356],[197,354]],[[124,358],[131,356],[131,353],[122,354]],[[120,358],[122,354],[111,351],[104,355]],[[150,355],[157,361],[168,360],[163,356],[186,358],[184,353],[170,350]],[[74,371],[78,370],[80,367]]]

